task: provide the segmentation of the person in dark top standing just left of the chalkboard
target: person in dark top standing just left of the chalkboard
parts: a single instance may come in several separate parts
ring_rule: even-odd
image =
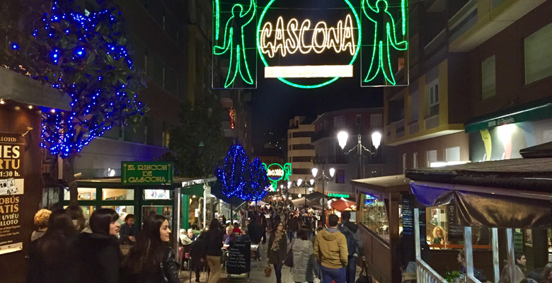
[[[205,238],[207,239],[207,265],[209,265],[209,270],[211,270],[209,283],[217,283],[222,272],[220,262],[222,256],[222,236],[224,236],[224,232],[220,229],[219,221],[213,219],[211,224],[209,224],[209,231],[205,232]]]

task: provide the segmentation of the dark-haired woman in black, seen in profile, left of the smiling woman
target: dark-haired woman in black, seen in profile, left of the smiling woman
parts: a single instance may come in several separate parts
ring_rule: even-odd
[[[122,253],[119,248],[119,214],[100,208],[90,216],[92,233],[80,233],[74,242],[74,262],[78,262],[78,282],[118,283]]]

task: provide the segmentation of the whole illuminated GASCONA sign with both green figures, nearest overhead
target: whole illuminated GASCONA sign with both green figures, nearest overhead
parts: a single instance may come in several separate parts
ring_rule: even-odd
[[[408,0],[214,0],[213,88],[408,85]]]

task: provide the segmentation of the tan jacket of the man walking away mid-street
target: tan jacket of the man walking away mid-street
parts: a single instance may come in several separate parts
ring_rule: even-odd
[[[314,255],[323,267],[346,267],[349,253],[345,235],[335,228],[321,230],[314,241]]]

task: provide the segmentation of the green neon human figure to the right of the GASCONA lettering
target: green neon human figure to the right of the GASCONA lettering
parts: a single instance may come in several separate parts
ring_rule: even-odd
[[[367,7],[368,6],[368,7]],[[387,11],[388,3],[386,0],[377,0],[374,8],[369,4],[369,0],[362,0],[362,11],[364,15],[374,22],[374,50],[372,51],[372,62],[370,62],[370,68],[368,74],[364,79],[364,82],[372,81],[381,71],[386,81],[393,86],[396,84],[393,72],[391,71],[391,57],[389,55],[389,47],[393,47],[396,50],[406,50],[408,42],[403,40],[397,41],[397,34],[395,30],[395,21],[391,13]],[[404,1],[403,1],[404,10]],[[384,14],[386,13],[386,15]],[[404,13],[403,13],[404,15]],[[384,18],[383,24],[378,23],[379,18]],[[403,23],[405,18],[403,18]],[[385,38],[381,38],[385,35]],[[405,28],[403,25],[403,36],[405,35]],[[377,64],[377,67],[375,66]]]

